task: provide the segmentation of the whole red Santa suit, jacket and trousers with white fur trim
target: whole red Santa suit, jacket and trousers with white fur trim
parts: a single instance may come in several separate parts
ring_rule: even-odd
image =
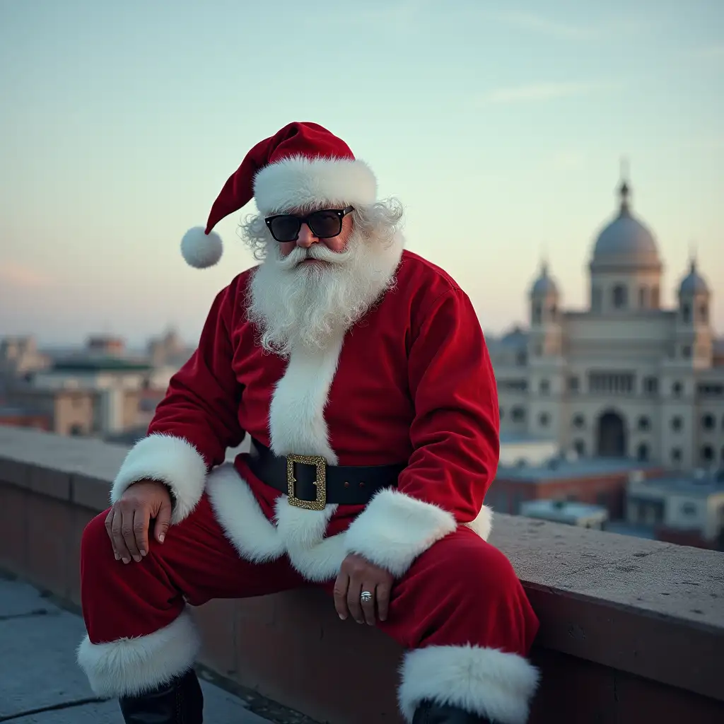
[[[260,174],[261,208],[300,201],[279,199],[287,191],[263,182]],[[361,321],[288,359],[266,352],[248,321],[254,270],[214,300],[198,349],[111,493],[115,502],[135,481],[164,481],[174,502],[167,539],[151,541],[142,563],[122,565],[106,514],[84,534],[88,636],[79,662],[99,694],[133,694],[188,668],[198,634],[186,602],[310,581],[331,593],[353,552],[395,576],[390,615],[378,627],[408,649],[399,688],[406,720],[424,699],[503,723],[526,720],[537,622],[510,563],[486,542],[483,501],[499,437],[484,337],[466,293],[403,251],[400,237],[385,264],[395,284]],[[249,455],[224,463],[245,435],[281,458],[404,468],[396,487],[366,504],[307,510],[259,479]]]

